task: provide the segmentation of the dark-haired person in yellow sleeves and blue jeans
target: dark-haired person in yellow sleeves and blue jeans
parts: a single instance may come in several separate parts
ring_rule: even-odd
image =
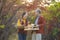
[[[20,26],[23,25],[21,28],[18,27],[19,40],[26,40],[27,31],[24,30],[24,27],[28,25],[27,16],[28,16],[28,14],[26,12],[24,12],[22,14],[22,19],[19,21],[20,22]]]

